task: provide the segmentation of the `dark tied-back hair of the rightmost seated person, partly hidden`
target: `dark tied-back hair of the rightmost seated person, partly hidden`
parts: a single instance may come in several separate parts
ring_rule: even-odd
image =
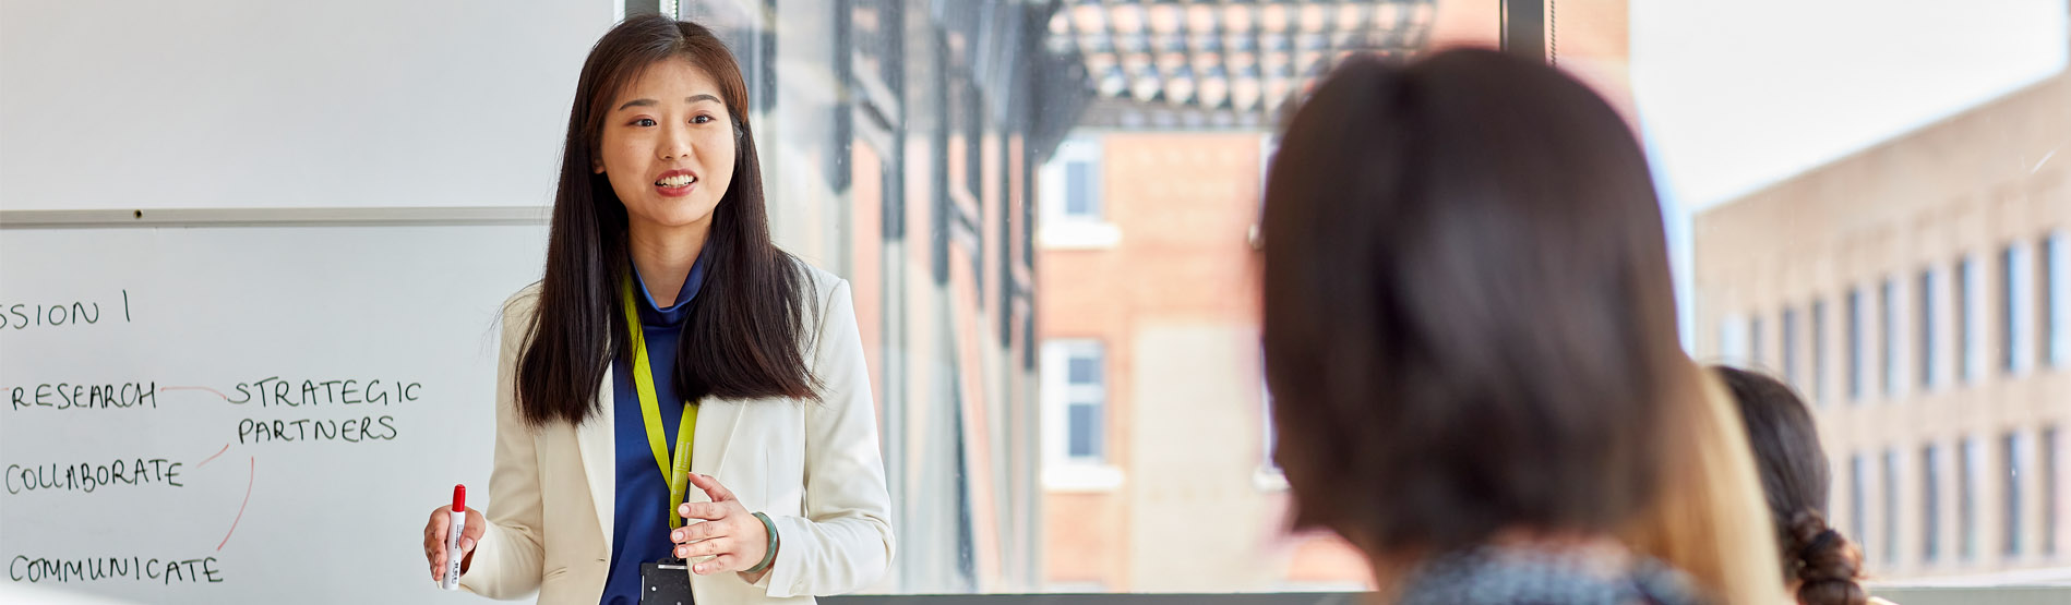
[[[1827,526],[1827,485],[1831,470],[1818,445],[1812,412],[1789,385],[1760,373],[1713,367],[1733,392],[1740,421],[1748,425],[1754,466],[1762,472],[1762,495],[1777,526],[1783,580],[1798,580],[1798,603],[1862,605],[1862,551]]]

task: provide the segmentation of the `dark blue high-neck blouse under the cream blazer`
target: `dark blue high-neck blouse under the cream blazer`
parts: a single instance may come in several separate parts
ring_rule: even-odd
[[[648,365],[654,369],[654,398],[661,408],[663,441],[675,448],[675,431],[683,421],[683,398],[675,392],[675,342],[690,323],[690,300],[704,288],[704,255],[690,265],[690,278],[675,294],[675,305],[661,309],[640,269],[634,267],[638,284],[640,329],[646,336]],[[617,311],[623,313],[623,311]],[[640,564],[673,557],[669,541],[669,483],[654,466],[654,450],[648,448],[646,421],[640,412],[640,392],[634,390],[632,352],[611,361],[611,406],[613,441],[617,443],[617,503],[611,514],[611,576],[605,578],[603,605],[640,603]],[[673,452],[671,452],[673,454]],[[698,489],[698,487],[690,487]]]

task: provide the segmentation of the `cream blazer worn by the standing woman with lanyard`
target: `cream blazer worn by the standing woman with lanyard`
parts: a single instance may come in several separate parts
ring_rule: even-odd
[[[893,559],[891,495],[855,302],[845,280],[814,267],[806,273],[820,313],[806,317],[810,342],[801,346],[822,381],[822,402],[706,398],[690,458],[692,472],[719,479],[750,512],[768,514],[781,541],[777,561],[754,584],[743,574],[692,574],[698,603],[814,603],[812,595],[874,584]],[[503,305],[489,528],[460,586],[491,599],[538,590],[538,603],[596,603],[611,566],[617,489],[611,377],[599,385],[603,414],[580,427],[526,427],[512,385],[536,302],[534,284]],[[710,497],[692,487],[688,499]]]

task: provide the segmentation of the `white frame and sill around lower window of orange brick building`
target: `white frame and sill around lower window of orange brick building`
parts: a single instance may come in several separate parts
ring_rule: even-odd
[[[1100,361],[1100,385],[1073,385],[1071,383],[1071,361],[1081,354],[1091,354]],[[1042,483],[1048,491],[1114,491],[1122,485],[1122,470],[1116,468],[1112,460],[1114,441],[1108,414],[1112,412],[1108,396],[1110,365],[1106,346],[1091,338],[1058,338],[1046,340],[1042,344],[1042,454],[1044,472]],[[1100,396],[1100,423],[1102,423],[1102,443],[1100,456],[1083,458],[1069,456],[1071,452],[1071,402],[1075,394],[1087,394],[1087,390],[1098,390]]]

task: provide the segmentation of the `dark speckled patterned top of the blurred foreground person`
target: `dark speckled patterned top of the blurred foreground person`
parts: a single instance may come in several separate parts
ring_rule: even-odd
[[[1702,605],[1684,572],[1622,549],[1477,547],[1435,557],[1402,605]]]

